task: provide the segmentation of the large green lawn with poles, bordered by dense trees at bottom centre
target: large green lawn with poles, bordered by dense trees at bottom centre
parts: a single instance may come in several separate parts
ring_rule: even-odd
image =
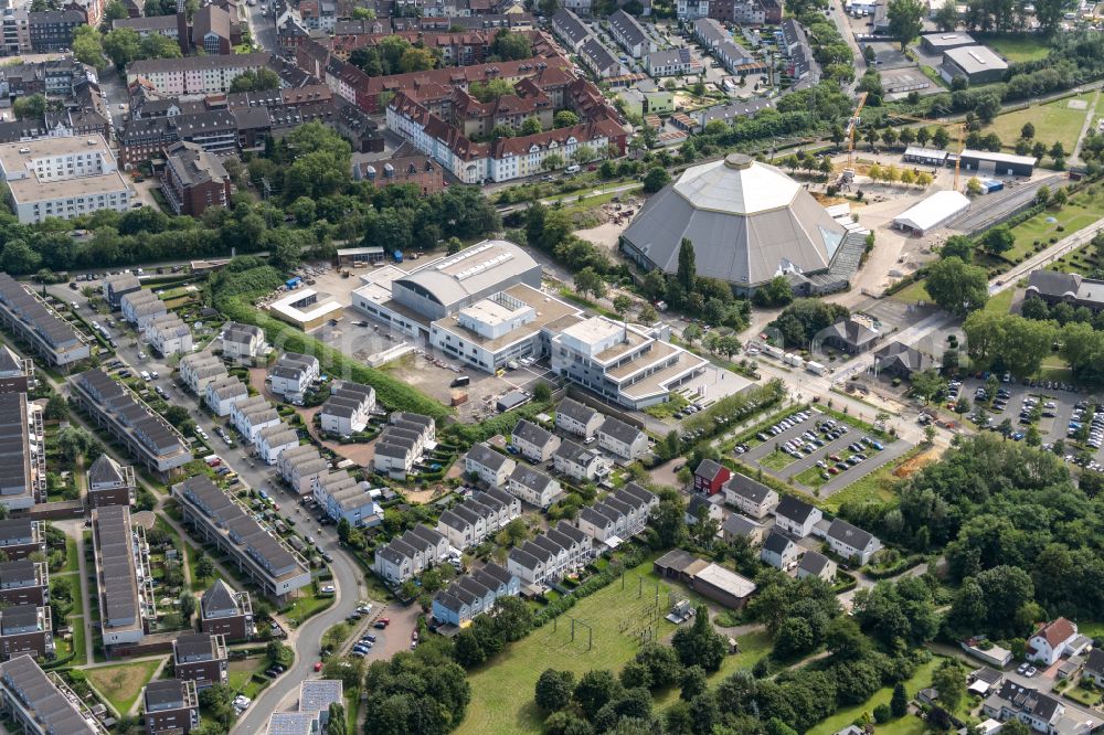
[[[641,578],[643,597],[638,598]],[[668,610],[668,592],[672,589],[676,589],[672,585],[660,582],[651,574],[649,560],[625,575],[625,589],[622,589],[620,582],[614,582],[605,589],[580,600],[578,605],[560,616],[555,629],[553,624],[548,624],[511,645],[468,677],[471,683],[471,703],[456,733],[540,733],[543,715],[533,703],[533,686],[541,672],[554,668],[573,671],[577,677],[592,669],[619,671],[638,650],[641,631],[650,629],[661,641],[675,631],[675,626],[662,617]],[[693,597],[684,590],[679,595]],[[587,650],[587,630],[582,626],[576,625],[575,640],[572,642],[571,618],[586,622],[593,629],[592,650]],[[751,640],[740,639],[742,645],[746,643],[749,647],[746,656],[762,656],[756,652],[765,652],[766,647],[757,639],[747,638]],[[735,668],[739,663],[739,660],[725,662],[730,668]]]

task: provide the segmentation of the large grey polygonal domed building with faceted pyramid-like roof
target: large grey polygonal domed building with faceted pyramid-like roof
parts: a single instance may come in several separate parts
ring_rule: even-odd
[[[678,270],[682,238],[698,275],[751,294],[786,275],[799,294],[847,287],[867,231],[832,219],[805,188],[747,156],[694,166],[648,200],[622,235],[622,249],[646,269]]]

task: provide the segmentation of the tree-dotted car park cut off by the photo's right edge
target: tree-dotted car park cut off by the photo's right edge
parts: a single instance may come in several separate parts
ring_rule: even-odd
[[[1095,462],[1090,465],[1092,469],[1104,468],[1104,409],[1100,398],[1061,382],[1034,383],[1001,380],[990,401],[988,393],[979,392],[985,391],[986,381],[969,377],[962,381],[957,391],[947,393],[944,405],[953,406],[958,397],[965,397],[972,406],[966,415],[969,420],[977,423],[980,418],[995,430],[1001,430],[1004,425],[1002,433],[1013,441],[1025,440],[1029,428],[1034,427],[1044,448],[1062,441],[1068,460],[1073,461],[1083,450]],[[977,414],[979,408],[983,416]]]

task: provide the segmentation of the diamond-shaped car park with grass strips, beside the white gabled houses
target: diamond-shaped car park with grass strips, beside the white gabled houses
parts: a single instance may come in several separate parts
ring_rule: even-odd
[[[739,459],[820,497],[846,488],[911,448],[901,439],[875,438],[815,406],[790,414],[756,439],[760,444],[745,451],[741,451],[744,445],[736,448]]]

